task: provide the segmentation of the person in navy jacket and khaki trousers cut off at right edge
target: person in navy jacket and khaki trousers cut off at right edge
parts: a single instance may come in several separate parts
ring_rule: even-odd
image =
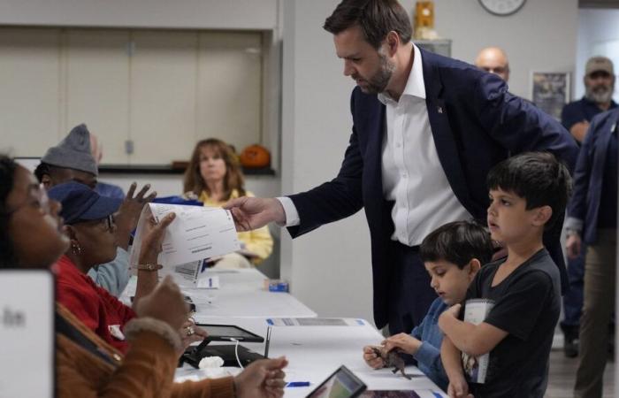
[[[578,155],[568,209],[568,256],[578,256],[582,242],[587,244],[574,396],[602,395],[608,323],[615,310],[618,121],[616,109],[592,119]]]

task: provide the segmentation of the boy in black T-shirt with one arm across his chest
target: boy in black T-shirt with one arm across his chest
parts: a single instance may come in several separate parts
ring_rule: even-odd
[[[561,282],[542,234],[562,219],[571,179],[553,155],[525,153],[496,165],[487,182],[488,227],[508,256],[481,268],[462,311],[456,304],[439,318],[447,393],[543,397]],[[477,320],[466,321],[479,310]]]

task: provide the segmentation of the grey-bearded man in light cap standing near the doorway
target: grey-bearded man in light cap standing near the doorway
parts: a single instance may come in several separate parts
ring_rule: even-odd
[[[607,57],[591,57],[585,66],[585,96],[563,107],[561,122],[569,130],[578,146],[585,141],[589,122],[603,111],[616,108],[613,101],[615,73],[613,63]],[[569,291],[563,295],[564,318],[563,353],[569,358],[578,356],[578,329],[583,308],[583,284],[585,279],[585,247],[578,256],[568,258]]]

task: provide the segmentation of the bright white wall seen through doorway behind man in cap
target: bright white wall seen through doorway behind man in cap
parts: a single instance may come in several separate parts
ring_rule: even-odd
[[[583,84],[585,65],[589,57],[598,55],[610,57],[613,60],[616,74],[619,68],[619,10],[579,10],[574,99],[585,95]],[[615,90],[614,98],[615,102],[619,101],[617,90]]]

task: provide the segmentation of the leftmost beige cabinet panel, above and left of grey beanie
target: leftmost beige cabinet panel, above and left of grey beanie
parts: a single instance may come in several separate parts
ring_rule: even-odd
[[[0,28],[0,150],[42,157],[64,136],[58,29]]]

